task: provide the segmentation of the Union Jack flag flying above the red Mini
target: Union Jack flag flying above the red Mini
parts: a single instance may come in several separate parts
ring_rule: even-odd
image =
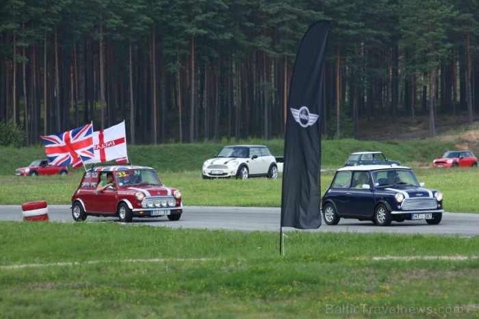
[[[83,161],[94,157],[93,123],[49,136],[40,136],[45,145],[49,164],[73,165],[77,169]]]

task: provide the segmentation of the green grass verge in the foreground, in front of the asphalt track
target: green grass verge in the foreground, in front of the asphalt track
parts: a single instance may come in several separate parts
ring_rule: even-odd
[[[0,233],[1,318],[479,316],[477,237],[291,232],[281,257],[277,233],[117,222]]]

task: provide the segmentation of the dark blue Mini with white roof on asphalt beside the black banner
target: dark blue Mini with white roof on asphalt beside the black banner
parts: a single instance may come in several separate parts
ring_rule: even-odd
[[[444,212],[443,194],[424,188],[409,167],[348,166],[337,170],[321,210],[328,225],[337,225],[341,217],[372,220],[379,226],[421,219],[437,225]]]

